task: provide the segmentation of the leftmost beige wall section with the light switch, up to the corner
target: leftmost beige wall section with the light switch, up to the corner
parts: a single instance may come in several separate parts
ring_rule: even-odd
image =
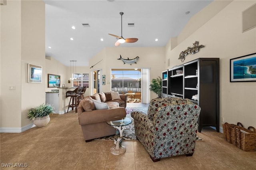
[[[21,2],[8,2],[0,9],[1,127],[21,127]],[[16,90],[9,90],[9,85],[15,85]]]

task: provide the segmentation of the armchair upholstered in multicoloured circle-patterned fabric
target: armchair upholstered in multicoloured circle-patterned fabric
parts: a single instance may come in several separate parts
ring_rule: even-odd
[[[131,113],[135,135],[153,162],[170,156],[193,155],[200,111],[189,99],[156,98],[150,101],[147,114]]]

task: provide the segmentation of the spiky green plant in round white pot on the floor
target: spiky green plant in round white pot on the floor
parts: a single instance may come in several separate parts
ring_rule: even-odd
[[[50,122],[50,113],[53,113],[54,107],[49,104],[42,104],[29,109],[27,118],[34,121],[37,127],[44,127]]]

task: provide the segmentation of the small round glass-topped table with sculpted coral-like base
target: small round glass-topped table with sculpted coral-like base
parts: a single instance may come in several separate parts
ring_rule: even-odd
[[[115,146],[110,148],[113,155],[120,155],[126,152],[125,146],[122,146],[122,137],[125,130],[125,126],[132,123],[132,120],[128,117],[113,117],[112,121],[106,122],[108,125],[116,128],[116,135],[120,134],[117,139],[114,140]]]

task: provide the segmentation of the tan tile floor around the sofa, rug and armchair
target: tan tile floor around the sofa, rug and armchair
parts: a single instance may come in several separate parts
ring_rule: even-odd
[[[141,106],[148,107],[133,105]],[[111,140],[84,142],[74,111],[50,117],[46,127],[0,134],[1,170],[256,170],[256,152],[240,150],[212,128],[198,133],[204,141],[196,142],[193,156],[162,158],[154,163],[139,141],[124,141],[126,153],[119,156],[110,153]],[[26,163],[28,167],[3,167],[7,163]]]

